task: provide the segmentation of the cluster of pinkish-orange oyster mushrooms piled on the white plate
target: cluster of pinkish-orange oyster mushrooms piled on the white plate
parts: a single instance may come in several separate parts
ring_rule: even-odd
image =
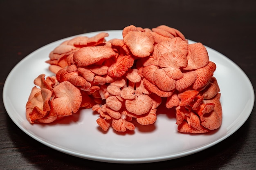
[[[132,120],[149,125],[166,98],[175,110],[179,132],[205,133],[220,127],[220,88],[216,64],[199,42],[188,44],[177,29],[127,26],[123,39],[106,41],[108,33],[79,36],[50,54],[53,77],[39,75],[26,105],[30,123],[50,123],[92,108],[107,131],[135,130]],[[171,109],[175,108],[175,109]]]

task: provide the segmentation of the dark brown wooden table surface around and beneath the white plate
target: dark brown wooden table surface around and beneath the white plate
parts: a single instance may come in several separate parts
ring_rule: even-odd
[[[256,88],[256,1],[254,0],[1,0],[0,94],[11,69],[50,42],[133,24],[165,24],[186,38],[234,61]],[[25,75],[24,75],[25,76]],[[227,82],[228,83],[228,82]],[[0,169],[247,169],[256,168],[256,109],[233,135],[179,159],[115,164],[66,155],[32,139],[13,123],[0,100]]]

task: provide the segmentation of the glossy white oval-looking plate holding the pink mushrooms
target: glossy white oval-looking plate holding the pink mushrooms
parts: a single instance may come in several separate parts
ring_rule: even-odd
[[[107,40],[122,38],[121,31],[106,31]],[[83,35],[93,36],[99,32]],[[72,37],[70,37],[72,38]],[[154,125],[138,126],[130,134],[110,128],[104,133],[96,123],[99,117],[91,109],[82,110],[70,119],[55,124],[29,124],[25,105],[34,79],[48,71],[48,55],[65,38],[34,51],[20,61],[4,84],[3,101],[13,122],[37,141],[69,155],[112,163],[146,163],[191,155],[209,148],[236,132],[249,117],[254,106],[254,90],[245,73],[224,55],[207,47],[210,60],[217,69],[214,76],[221,89],[222,126],[210,134],[190,135],[177,132],[176,119],[158,114]],[[193,43],[190,41],[190,43]],[[164,110],[158,111],[158,113]]]

